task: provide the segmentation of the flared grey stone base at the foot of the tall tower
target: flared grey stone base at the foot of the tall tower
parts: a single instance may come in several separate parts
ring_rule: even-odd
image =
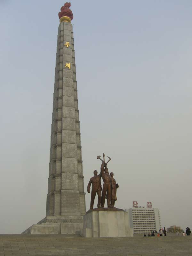
[[[21,235],[75,234],[83,228],[83,216],[47,216]]]

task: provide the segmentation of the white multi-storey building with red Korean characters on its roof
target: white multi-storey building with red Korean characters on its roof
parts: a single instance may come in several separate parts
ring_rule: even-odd
[[[134,204],[133,204],[134,205]],[[161,228],[160,211],[157,208],[136,206],[125,209],[130,216],[130,228],[134,234],[159,231]]]

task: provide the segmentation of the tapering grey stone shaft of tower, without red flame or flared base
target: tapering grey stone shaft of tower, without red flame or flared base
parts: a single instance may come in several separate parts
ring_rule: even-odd
[[[66,42],[69,42],[70,46],[65,46]],[[57,41],[52,113],[50,150],[52,172],[49,173],[48,179],[46,216],[57,216],[58,212],[60,215],[63,213],[70,215],[71,212],[75,212],[78,217],[85,214],[83,176],[82,173],[79,175],[77,168],[77,165],[81,165],[79,168],[82,167],[82,163],[78,163],[82,157],[79,123],[76,125],[76,122],[79,122],[79,110],[76,104],[76,73],[73,71],[75,57],[72,54],[74,49],[72,42],[74,42],[72,25],[69,22],[61,22]],[[70,68],[66,67],[67,63],[70,63]],[[57,168],[52,167],[59,161],[61,164],[58,164]],[[57,199],[55,192],[60,192],[60,195],[56,196]]]

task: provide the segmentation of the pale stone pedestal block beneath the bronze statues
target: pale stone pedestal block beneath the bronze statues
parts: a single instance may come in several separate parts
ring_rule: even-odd
[[[117,208],[96,208],[84,215],[83,237],[126,237],[133,236],[127,212]]]

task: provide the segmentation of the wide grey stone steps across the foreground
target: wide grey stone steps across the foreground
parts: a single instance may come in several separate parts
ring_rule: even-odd
[[[73,235],[0,235],[0,256],[192,255],[192,236],[82,238]]]

